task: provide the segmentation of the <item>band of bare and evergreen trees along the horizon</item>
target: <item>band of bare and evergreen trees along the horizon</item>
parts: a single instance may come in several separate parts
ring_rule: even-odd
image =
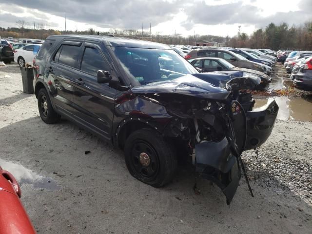
[[[240,33],[234,37],[220,37],[214,35],[190,35],[187,37],[181,34],[161,35],[159,32],[151,34],[151,32],[137,29],[110,29],[108,32],[96,32],[90,28],[85,31],[67,30],[59,31],[53,29],[45,29],[47,25],[42,23],[34,23],[34,28],[30,24],[19,20],[16,22],[18,27],[2,28],[0,27],[1,38],[33,38],[46,39],[50,35],[60,34],[82,34],[82,35],[109,35],[128,37],[134,39],[151,40],[164,44],[181,44],[195,45],[198,40],[216,41],[224,43],[228,47],[242,48],[270,48],[273,50],[290,49],[290,50],[312,50],[312,21],[308,21],[302,25],[289,26],[283,22],[279,25],[270,23],[264,29],[257,29],[251,35]]]

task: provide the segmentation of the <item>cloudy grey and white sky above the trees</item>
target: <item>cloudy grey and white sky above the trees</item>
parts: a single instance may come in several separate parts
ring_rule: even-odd
[[[140,29],[152,34],[234,36],[251,34],[268,23],[299,25],[312,20],[312,0],[0,0],[0,26],[17,20],[43,23],[46,28],[109,31]]]

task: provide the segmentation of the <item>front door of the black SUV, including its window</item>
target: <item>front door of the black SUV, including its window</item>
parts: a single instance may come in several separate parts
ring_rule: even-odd
[[[86,41],[74,80],[74,115],[101,137],[111,138],[116,89],[108,83],[98,83],[97,71],[115,76],[108,62],[107,51],[98,42]]]

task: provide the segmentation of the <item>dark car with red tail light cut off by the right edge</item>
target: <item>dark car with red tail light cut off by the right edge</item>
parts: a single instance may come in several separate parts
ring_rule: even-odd
[[[299,88],[312,90],[312,57],[302,62],[293,79],[293,84]]]

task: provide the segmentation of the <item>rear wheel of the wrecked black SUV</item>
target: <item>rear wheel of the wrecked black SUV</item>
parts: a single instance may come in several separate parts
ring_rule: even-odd
[[[38,92],[38,109],[43,122],[56,123],[59,121],[60,115],[53,109],[48,92],[44,88]]]

